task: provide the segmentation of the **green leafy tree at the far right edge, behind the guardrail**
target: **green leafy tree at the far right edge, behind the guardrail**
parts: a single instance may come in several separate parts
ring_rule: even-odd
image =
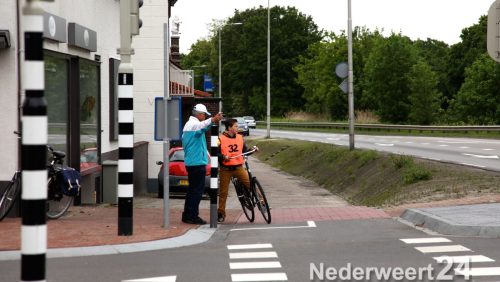
[[[500,66],[488,54],[465,69],[465,81],[451,101],[450,115],[455,122],[500,123]]]

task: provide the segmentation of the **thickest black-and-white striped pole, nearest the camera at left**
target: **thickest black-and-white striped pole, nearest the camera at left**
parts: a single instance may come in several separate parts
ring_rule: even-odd
[[[21,142],[21,281],[45,281],[47,252],[47,103],[44,97],[43,10],[27,1]]]

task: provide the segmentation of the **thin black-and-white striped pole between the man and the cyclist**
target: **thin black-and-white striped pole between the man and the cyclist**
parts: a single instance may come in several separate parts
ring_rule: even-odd
[[[219,159],[218,159],[218,138],[219,126],[212,125],[210,137],[210,227],[217,228],[217,192],[219,188]]]

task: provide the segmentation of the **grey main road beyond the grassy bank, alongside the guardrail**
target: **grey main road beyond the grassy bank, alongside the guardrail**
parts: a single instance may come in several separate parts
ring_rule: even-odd
[[[266,130],[250,134],[265,136]],[[348,134],[271,130],[271,137],[349,146]],[[356,135],[355,147],[500,171],[500,141],[492,139]]]

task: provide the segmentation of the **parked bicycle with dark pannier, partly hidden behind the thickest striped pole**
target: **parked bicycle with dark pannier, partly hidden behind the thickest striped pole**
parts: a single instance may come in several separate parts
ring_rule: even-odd
[[[47,165],[48,180],[47,180],[47,204],[46,213],[47,217],[50,219],[56,219],[61,217],[70,207],[73,202],[74,197],[78,194],[78,191],[70,191],[67,189],[65,191],[61,188],[60,182],[62,179],[62,171],[64,157],[66,154],[61,151],[54,151],[52,147],[47,146],[47,149],[52,154],[52,160],[49,165]],[[71,168],[66,168],[66,170],[73,170]],[[72,182],[72,181],[70,181]],[[68,183],[69,186],[75,185]],[[79,180],[76,181],[78,186],[75,189],[80,188]],[[0,196],[0,221],[3,220],[7,214],[10,212],[14,203],[21,191],[21,172],[16,171],[14,176],[7,184],[6,189]]]

